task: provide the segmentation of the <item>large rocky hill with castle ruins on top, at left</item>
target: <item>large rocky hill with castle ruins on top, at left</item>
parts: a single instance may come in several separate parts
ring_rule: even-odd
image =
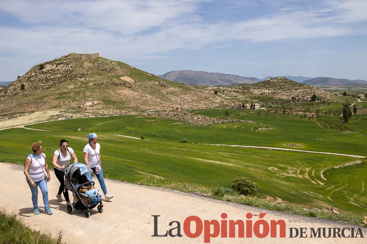
[[[62,56],[33,66],[0,89],[0,113],[78,106],[96,101],[97,113],[218,106],[224,98],[211,87],[164,80],[120,61],[94,54]]]

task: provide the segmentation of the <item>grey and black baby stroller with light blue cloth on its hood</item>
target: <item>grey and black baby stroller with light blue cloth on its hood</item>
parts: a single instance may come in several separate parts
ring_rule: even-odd
[[[83,187],[88,187],[89,189],[94,188],[94,181],[92,181],[92,176],[88,166],[81,163],[75,163],[69,165],[67,169],[64,168],[62,172],[64,173],[66,179],[65,188],[73,192],[73,196],[75,197],[73,203],[68,203],[66,205],[68,213],[73,214],[74,210],[84,210],[84,215],[89,218],[90,210],[97,205],[98,212],[102,213],[103,204],[101,201],[101,196],[99,196],[98,192],[93,199],[80,192]],[[73,184],[72,181],[76,184]]]

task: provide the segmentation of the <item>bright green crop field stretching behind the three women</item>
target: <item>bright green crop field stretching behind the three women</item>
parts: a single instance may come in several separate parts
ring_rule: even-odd
[[[224,116],[224,111],[195,113],[218,117]],[[240,113],[231,111],[233,115]],[[49,131],[23,128],[0,131],[0,161],[23,164],[30,145],[42,140],[47,162],[52,166],[52,154],[63,138],[75,150],[79,161],[83,161],[87,134],[96,132],[103,172],[110,179],[210,192],[215,187],[230,188],[232,180],[245,176],[259,184],[257,198],[300,207],[334,207],[344,213],[364,216],[366,159],[199,144],[282,147],[366,156],[367,116],[353,116],[350,122],[363,133],[341,133],[320,127],[314,119],[282,116],[242,114],[231,118],[257,123],[207,127],[146,116],[58,120],[27,126]],[[256,131],[252,130],[254,127],[272,129]],[[118,135],[143,136],[149,140]],[[185,138],[189,143],[180,142]],[[353,162],[357,163],[334,168]]]

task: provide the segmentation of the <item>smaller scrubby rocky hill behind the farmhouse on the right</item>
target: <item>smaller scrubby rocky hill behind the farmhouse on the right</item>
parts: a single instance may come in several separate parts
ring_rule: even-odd
[[[312,96],[314,93],[326,100],[333,99],[334,97],[334,95],[328,91],[321,90],[314,86],[304,85],[284,77],[269,78],[256,84],[242,86],[239,90],[247,94],[270,95],[284,99],[297,96]]]

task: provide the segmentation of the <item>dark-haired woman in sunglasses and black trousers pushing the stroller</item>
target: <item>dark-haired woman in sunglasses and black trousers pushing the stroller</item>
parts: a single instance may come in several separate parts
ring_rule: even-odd
[[[62,139],[60,141],[60,149],[57,149],[54,152],[54,157],[52,158],[52,164],[54,165],[54,172],[56,175],[56,178],[60,181],[60,187],[59,192],[56,195],[57,200],[59,202],[62,202],[62,196],[61,192],[63,192],[64,198],[66,202],[70,202],[69,200],[69,191],[65,188],[65,182],[64,182],[64,173],[62,172],[62,169],[67,167],[70,164],[70,159],[73,158],[74,163],[78,162],[78,159],[74,153],[74,150],[69,147],[68,141],[65,139]],[[64,191],[65,189],[65,191]]]

